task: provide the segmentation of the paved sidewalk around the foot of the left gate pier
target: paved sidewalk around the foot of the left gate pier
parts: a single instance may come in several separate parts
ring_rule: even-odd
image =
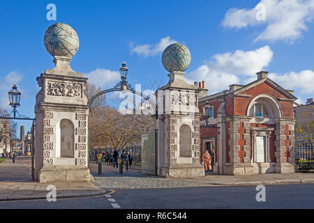
[[[15,163],[7,159],[0,164],[0,201],[46,199],[47,185],[57,189],[57,199],[92,197],[105,194],[93,183],[38,183],[31,181],[30,157],[17,157]]]

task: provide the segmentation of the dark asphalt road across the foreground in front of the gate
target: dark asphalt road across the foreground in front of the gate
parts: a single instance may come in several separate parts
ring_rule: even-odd
[[[266,201],[256,201],[256,187],[184,187],[108,190],[107,196],[84,199],[1,201],[2,208],[220,209],[314,208],[314,184],[266,185]]]

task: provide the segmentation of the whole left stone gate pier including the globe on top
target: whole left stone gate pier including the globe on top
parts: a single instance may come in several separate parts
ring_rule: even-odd
[[[45,33],[45,47],[55,67],[37,77],[35,180],[89,181],[87,78],[69,65],[79,47],[77,33],[67,24],[53,24]]]

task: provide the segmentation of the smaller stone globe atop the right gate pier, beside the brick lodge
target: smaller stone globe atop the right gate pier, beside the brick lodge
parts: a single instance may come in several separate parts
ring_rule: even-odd
[[[173,43],[163,51],[162,61],[168,72],[184,72],[190,66],[190,50],[181,43]]]

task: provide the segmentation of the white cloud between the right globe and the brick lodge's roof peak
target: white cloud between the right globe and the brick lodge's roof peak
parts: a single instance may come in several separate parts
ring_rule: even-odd
[[[204,64],[186,75],[190,84],[204,80],[210,93],[229,89],[230,84],[239,84],[237,75],[254,75],[271,62],[273,52],[269,46],[253,51],[237,50],[234,53],[216,54],[209,63]]]

